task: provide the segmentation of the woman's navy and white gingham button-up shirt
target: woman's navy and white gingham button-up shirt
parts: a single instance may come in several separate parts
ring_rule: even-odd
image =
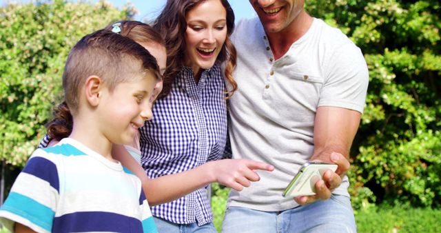
[[[183,68],[170,94],[154,104],[153,119],[141,132],[141,163],[147,176],[191,170],[220,159],[227,139],[225,83],[220,68],[204,70],[198,84],[191,68]],[[152,214],[173,223],[213,220],[206,189],[152,207]]]

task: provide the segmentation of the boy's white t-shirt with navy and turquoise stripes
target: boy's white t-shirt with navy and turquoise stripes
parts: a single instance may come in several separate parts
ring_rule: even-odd
[[[37,232],[157,232],[141,181],[74,139],[36,150],[0,208]]]

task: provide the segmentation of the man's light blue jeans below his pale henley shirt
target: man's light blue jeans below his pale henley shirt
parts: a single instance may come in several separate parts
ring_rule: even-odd
[[[351,201],[347,196],[331,195],[326,201],[295,207],[282,212],[265,212],[229,207],[223,233],[357,232]]]

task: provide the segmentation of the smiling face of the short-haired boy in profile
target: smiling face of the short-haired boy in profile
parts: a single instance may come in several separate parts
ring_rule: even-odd
[[[152,72],[134,81],[119,83],[113,92],[103,91],[99,103],[101,131],[112,143],[130,144],[144,121],[153,118],[154,87],[158,80]]]

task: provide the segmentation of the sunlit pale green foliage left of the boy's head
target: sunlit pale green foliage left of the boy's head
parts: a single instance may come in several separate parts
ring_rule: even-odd
[[[45,134],[61,101],[61,74],[70,48],[85,34],[132,17],[99,3],[8,4],[0,8],[0,159],[22,166]]]

